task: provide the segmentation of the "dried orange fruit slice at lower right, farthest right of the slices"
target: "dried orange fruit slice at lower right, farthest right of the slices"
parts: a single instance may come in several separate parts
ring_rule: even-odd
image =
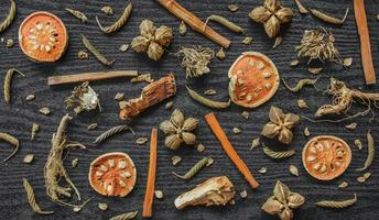
[[[320,180],[331,180],[340,176],[350,161],[349,145],[337,136],[315,136],[303,148],[303,165],[306,172]]]

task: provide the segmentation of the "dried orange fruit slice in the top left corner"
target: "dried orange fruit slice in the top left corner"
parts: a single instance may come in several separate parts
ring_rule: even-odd
[[[29,15],[20,25],[19,43],[22,52],[34,62],[55,62],[68,45],[64,23],[45,11]]]

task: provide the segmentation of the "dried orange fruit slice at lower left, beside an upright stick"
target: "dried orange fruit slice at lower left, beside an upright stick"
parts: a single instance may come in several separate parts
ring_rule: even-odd
[[[127,196],[136,185],[137,170],[128,154],[112,152],[97,157],[89,167],[89,184],[104,196]]]

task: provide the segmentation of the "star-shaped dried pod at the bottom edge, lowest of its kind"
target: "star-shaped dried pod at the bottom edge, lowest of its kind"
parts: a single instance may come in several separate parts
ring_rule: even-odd
[[[262,206],[262,209],[270,215],[278,215],[282,220],[293,219],[292,209],[301,207],[305,198],[296,193],[292,193],[288,186],[280,180],[277,182],[271,196]]]

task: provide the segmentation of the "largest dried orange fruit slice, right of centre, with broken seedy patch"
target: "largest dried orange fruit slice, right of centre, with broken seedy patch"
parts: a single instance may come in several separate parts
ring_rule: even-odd
[[[272,61],[258,52],[245,52],[229,69],[229,96],[236,105],[256,108],[278,90],[279,73]]]

